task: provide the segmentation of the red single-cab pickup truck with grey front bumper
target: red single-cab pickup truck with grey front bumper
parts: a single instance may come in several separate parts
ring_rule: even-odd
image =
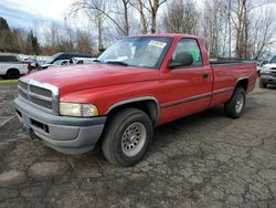
[[[255,82],[255,63],[210,63],[198,37],[148,34],[116,42],[95,64],[21,77],[14,105],[32,138],[65,154],[99,143],[109,162],[131,166],[155,126],[220,104],[240,117]]]

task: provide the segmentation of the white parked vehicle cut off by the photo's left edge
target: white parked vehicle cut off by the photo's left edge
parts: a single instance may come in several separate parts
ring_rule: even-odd
[[[17,54],[0,53],[0,76],[8,80],[19,79],[28,74],[30,64],[22,63]]]

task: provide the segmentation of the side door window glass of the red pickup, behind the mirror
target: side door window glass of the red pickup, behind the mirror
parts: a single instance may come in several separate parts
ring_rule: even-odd
[[[201,51],[197,40],[194,39],[182,39],[178,42],[177,48],[172,54],[172,61],[178,54],[189,53],[193,58],[191,66],[202,66]]]

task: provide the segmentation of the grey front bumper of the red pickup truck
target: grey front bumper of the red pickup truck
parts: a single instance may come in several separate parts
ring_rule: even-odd
[[[78,118],[57,116],[34,107],[21,97],[14,100],[17,115],[25,128],[47,146],[65,154],[82,154],[93,149],[99,139],[105,116]]]

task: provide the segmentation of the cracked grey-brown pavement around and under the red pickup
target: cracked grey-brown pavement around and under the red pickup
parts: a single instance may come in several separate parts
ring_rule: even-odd
[[[0,207],[276,207],[276,89],[245,114],[217,106],[162,125],[146,158],[115,167],[99,148],[66,156],[25,136],[15,84],[0,84]]]

